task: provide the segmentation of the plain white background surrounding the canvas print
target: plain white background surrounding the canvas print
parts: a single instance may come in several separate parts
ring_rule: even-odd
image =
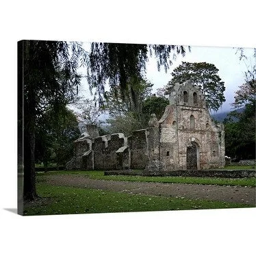
[[[18,40],[256,47],[254,1],[23,0],[2,1],[0,10],[1,255],[249,255],[255,251],[256,208],[27,217],[13,213]]]

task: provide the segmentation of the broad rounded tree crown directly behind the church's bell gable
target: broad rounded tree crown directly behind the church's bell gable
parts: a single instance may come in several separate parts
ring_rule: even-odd
[[[201,88],[207,106],[212,110],[218,110],[225,101],[223,94],[225,86],[217,73],[218,68],[214,64],[182,62],[171,73],[172,79],[168,82],[166,93],[168,94],[170,88],[175,86],[176,83],[181,84],[190,80],[192,84]]]

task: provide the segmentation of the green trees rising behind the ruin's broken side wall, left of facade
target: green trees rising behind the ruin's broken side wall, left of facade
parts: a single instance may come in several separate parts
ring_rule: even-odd
[[[120,90],[112,88],[110,92],[105,93],[104,110],[110,115],[107,119],[110,133],[122,132],[125,136],[130,136],[132,131],[148,127],[151,114],[156,114],[158,119],[164,114],[169,101],[166,97],[152,94],[153,84],[142,80],[132,86],[136,88],[136,104],[131,99],[131,90],[126,92],[125,99],[122,99]],[[130,87],[131,85],[128,88]]]

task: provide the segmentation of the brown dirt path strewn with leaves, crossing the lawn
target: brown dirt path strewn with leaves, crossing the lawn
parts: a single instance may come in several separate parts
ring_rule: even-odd
[[[209,199],[255,205],[255,188],[240,186],[105,181],[89,179],[80,175],[49,175],[47,182],[53,185],[71,185],[79,188],[94,188],[131,194],[183,196],[190,199]]]

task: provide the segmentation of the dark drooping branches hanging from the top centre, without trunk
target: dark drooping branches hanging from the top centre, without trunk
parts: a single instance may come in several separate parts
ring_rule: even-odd
[[[101,103],[107,83],[110,88],[120,86],[120,92],[125,97],[125,91],[131,80],[136,83],[144,78],[149,55],[157,58],[158,70],[163,66],[167,71],[172,59],[178,54],[185,55],[183,46],[93,42],[88,61],[90,88],[97,88]],[[134,89],[131,87],[132,97],[133,92]]]

